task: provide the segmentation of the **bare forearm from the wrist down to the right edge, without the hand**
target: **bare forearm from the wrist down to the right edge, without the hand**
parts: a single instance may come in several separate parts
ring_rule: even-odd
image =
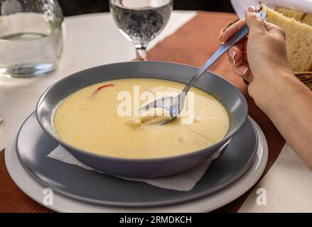
[[[261,102],[259,107],[312,170],[312,92],[294,74],[277,73],[281,78],[269,87],[270,96],[256,95],[255,100]]]

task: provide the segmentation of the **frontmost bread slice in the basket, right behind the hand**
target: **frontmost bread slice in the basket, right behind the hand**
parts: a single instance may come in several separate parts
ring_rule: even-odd
[[[283,14],[266,8],[267,21],[284,28],[286,50],[289,63],[294,72],[312,70],[312,26],[296,21]]]

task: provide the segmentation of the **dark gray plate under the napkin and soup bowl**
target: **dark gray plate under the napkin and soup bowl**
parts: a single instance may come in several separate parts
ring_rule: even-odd
[[[16,152],[23,167],[33,177],[71,198],[109,206],[163,206],[199,199],[234,182],[251,165],[257,140],[257,132],[247,119],[220,157],[189,192],[130,182],[47,157],[58,143],[41,129],[35,114],[31,114],[18,131]]]

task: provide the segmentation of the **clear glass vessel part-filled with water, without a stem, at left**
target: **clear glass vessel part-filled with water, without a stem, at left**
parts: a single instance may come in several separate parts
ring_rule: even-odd
[[[62,23],[57,0],[1,0],[0,75],[33,77],[55,70]]]

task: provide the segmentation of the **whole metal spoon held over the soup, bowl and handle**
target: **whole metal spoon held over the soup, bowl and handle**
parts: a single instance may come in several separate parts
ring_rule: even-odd
[[[264,20],[267,17],[267,14],[264,12],[260,12],[259,15]],[[140,109],[141,111],[147,111],[151,108],[162,108],[165,111],[168,111],[170,113],[170,120],[164,122],[168,123],[169,121],[172,121],[173,118],[176,118],[178,114],[182,111],[184,107],[185,102],[185,96],[190,90],[190,88],[193,86],[193,84],[199,79],[199,77],[206,71],[208,68],[213,65],[227,50],[232,48],[233,45],[238,43],[242,38],[244,38],[249,33],[249,28],[247,25],[242,27],[240,31],[237,31],[232,38],[227,40],[224,45],[220,45],[220,48],[217,49],[217,51],[210,57],[210,59],[205,62],[205,65],[203,65],[195,74],[193,75],[192,79],[186,84],[183,91],[178,94],[178,96],[166,96],[161,99],[157,99],[156,101],[152,101],[151,103],[147,104],[146,106],[143,106]],[[164,124],[163,123],[163,124]]]

